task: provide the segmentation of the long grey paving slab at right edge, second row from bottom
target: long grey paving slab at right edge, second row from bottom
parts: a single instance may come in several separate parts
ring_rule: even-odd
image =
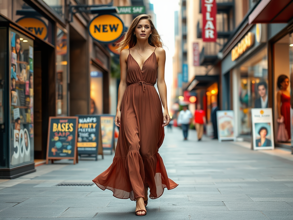
[[[286,202],[224,202],[230,211],[293,211]]]

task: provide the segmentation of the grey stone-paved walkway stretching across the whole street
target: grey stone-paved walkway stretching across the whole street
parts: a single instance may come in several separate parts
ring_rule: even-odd
[[[135,202],[117,199],[96,185],[56,186],[91,184],[113,160],[114,155],[105,155],[104,160],[82,159],[76,165],[62,160],[14,180],[0,180],[0,219],[293,219],[289,151],[253,151],[245,142],[219,143],[205,137],[197,142],[195,131],[183,141],[178,128],[165,133],[159,153],[169,178],[179,186],[149,199],[145,217],[134,215]]]

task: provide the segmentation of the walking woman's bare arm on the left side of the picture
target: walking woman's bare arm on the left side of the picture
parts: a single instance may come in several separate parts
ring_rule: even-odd
[[[129,50],[122,50],[120,53],[120,83],[118,87],[118,101],[117,101],[117,112],[115,116],[115,124],[120,127],[120,117],[121,117],[121,103],[122,103],[122,97],[124,95],[124,92],[127,88],[126,83],[126,71],[127,71],[127,56],[129,54]]]

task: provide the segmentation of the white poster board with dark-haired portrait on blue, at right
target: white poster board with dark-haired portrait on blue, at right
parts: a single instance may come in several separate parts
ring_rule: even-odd
[[[251,109],[253,150],[275,148],[272,108]]]

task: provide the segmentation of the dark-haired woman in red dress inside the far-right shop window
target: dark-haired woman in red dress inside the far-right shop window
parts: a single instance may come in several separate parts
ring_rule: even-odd
[[[290,131],[290,92],[289,87],[289,77],[286,75],[280,75],[278,77],[277,86],[280,89],[277,92],[277,110],[278,118],[284,117],[285,128],[288,133],[288,137],[291,137]]]

